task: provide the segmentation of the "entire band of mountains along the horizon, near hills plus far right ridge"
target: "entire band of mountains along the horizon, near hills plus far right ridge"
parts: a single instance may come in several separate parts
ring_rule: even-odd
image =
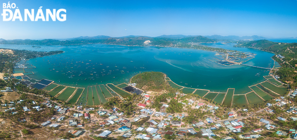
[[[210,43],[216,41],[232,41],[232,40],[260,40],[265,37],[257,35],[253,36],[201,36],[201,35],[161,35],[158,37],[136,36],[129,35],[124,37],[110,37],[106,35],[98,36],[81,36],[67,39],[44,39],[44,40],[31,40],[31,39],[14,39],[5,40],[0,39],[1,44],[30,44],[30,45],[74,45],[74,44],[117,44],[117,45],[161,45],[170,46],[177,43]]]

